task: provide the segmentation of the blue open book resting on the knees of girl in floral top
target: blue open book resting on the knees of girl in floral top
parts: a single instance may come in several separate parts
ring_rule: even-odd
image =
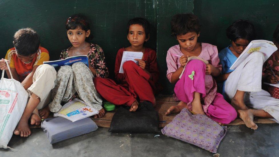
[[[72,65],[73,63],[76,62],[82,62],[85,65],[87,65],[87,67],[89,66],[87,55],[77,55],[77,56],[67,57],[65,59],[59,59],[56,61],[44,61],[43,63],[52,65],[54,68],[57,68],[64,65]]]

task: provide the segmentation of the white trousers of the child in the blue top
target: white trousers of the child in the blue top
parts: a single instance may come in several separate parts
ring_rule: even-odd
[[[226,83],[226,97],[232,100],[237,90],[245,91],[244,103],[255,109],[262,109],[279,121],[279,99],[262,90],[262,65],[264,55],[260,52],[250,54],[230,73]]]

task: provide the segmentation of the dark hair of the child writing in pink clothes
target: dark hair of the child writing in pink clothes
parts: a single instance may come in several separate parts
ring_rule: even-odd
[[[199,18],[191,13],[174,15],[170,24],[172,26],[173,37],[184,35],[189,32],[200,33]]]

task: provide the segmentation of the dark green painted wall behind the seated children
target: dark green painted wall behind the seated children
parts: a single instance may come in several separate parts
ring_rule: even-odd
[[[258,39],[272,40],[279,23],[278,0],[69,0],[34,1],[0,0],[0,57],[13,47],[13,34],[20,28],[31,27],[41,37],[41,45],[58,59],[60,51],[71,45],[67,39],[65,20],[72,14],[84,13],[91,19],[93,43],[103,47],[110,77],[113,77],[115,55],[129,42],[126,24],[133,17],[145,17],[152,24],[146,46],[157,50],[160,82],[164,94],[173,92],[166,78],[166,53],[178,44],[170,36],[170,20],[176,13],[195,13],[202,24],[200,42],[226,47],[226,28],[237,19],[251,20]]]

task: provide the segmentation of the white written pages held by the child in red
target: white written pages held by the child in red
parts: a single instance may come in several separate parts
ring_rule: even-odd
[[[142,59],[142,56],[143,56],[142,52],[124,51],[122,55],[121,65],[119,68],[119,73],[124,73],[123,64],[125,63],[125,61],[133,61],[136,64],[139,64],[139,62],[135,61],[135,59]]]

